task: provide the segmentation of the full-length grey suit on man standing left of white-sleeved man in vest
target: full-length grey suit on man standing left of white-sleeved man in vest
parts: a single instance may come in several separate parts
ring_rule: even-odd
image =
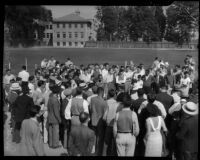
[[[58,147],[59,145],[59,123],[60,117],[60,102],[52,93],[49,95],[48,108],[48,131],[49,131],[49,147]]]

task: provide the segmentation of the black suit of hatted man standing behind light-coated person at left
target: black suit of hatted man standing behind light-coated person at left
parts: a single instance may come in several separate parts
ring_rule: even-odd
[[[26,94],[18,96],[13,104],[13,116],[15,121],[13,141],[16,143],[19,143],[21,139],[19,132],[21,129],[22,121],[30,117],[29,111],[33,105],[33,99]]]

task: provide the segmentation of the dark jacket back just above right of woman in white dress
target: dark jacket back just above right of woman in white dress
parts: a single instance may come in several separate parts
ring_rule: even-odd
[[[158,93],[156,95],[156,100],[160,101],[164,105],[166,112],[168,112],[169,108],[174,104],[173,97],[168,95],[167,92]]]

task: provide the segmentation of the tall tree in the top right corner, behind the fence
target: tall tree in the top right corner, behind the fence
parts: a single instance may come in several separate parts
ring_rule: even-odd
[[[166,11],[167,29],[165,39],[178,44],[188,43],[191,40],[191,31],[198,29],[199,2],[177,1]]]

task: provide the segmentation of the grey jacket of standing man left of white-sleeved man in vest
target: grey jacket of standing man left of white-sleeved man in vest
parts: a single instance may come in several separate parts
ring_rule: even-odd
[[[61,123],[60,102],[58,98],[54,97],[52,93],[49,95],[47,108],[48,108],[48,117],[47,117],[48,123],[51,123],[51,124]]]

